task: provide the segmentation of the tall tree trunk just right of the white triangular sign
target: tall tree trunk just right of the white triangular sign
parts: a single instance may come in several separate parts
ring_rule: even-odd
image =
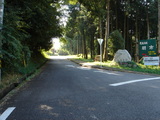
[[[106,5],[106,9],[107,9],[107,19],[106,19],[106,30],[105,30],[105,38],[104,38],[104,54],[103,54],[103,58],[104,61],[108,60],[108,37],[109,37],[109,9],[110,9],[110,0],[107,0],[107,5]]]

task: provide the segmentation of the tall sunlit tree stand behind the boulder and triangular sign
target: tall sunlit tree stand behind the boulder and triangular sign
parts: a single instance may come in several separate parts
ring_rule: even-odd
[[[73,54],[94,58],[99,54],[97,38],[103,38],[103,59],[113,58],[124,39],[124,48],[138,61],[138,41],[157,39],[158,0],[72,0],[69,20],[65,29],[66,48]],[[118,31],[118,32],[117,32]],[[123,41],[123,40],[122,40]],[[122,45],[123,46],[123,45]],[[123,48],[123,47],[122,47]]]

